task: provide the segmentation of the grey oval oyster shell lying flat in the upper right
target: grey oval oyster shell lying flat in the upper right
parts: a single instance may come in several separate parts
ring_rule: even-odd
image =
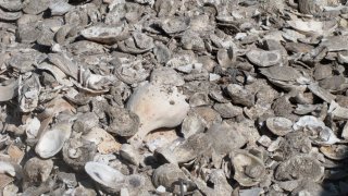
[[[252,64],[261,68],[272,66],[282,62],[282,53],[278,50],[250,50],[246,56]]]

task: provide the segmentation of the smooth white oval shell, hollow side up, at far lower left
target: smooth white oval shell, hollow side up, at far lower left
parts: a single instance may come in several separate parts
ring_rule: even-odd
[[[45,132],[35,147],[35,151],[41,158],[47,159],[58,154],[69,139],[72,132],[72,124],[61,122],[51,130]]]

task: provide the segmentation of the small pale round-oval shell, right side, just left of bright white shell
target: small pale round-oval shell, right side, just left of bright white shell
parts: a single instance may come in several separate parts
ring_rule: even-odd
[[[282,117],[269,118],[265,124],[273,134],[278,136],[284,136],[293,131],[293,122]]]

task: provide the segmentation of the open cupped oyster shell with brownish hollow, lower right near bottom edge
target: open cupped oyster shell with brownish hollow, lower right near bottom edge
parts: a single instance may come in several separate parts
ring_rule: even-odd
[[[235,171],[234,179],[243,186],[253,186],[265,177],[263,162],[256,156],[243,150],[232,152],[231,161]]]

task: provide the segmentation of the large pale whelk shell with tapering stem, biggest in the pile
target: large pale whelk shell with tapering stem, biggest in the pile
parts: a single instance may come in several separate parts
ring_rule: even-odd
[[[185,96],[176,87],[152,83],[139,86],[130,96],[127,108],[140,120],[139,131],[130,138],[130,144],[141,143],[156,128],[179,125],[189,110]]]

